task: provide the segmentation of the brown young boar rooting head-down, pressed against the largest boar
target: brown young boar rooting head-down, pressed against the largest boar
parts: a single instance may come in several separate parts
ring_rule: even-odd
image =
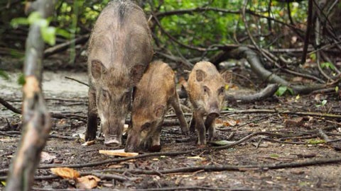
[[[125,151],[160,151],[161,127],[168,105],[174,108],[180,128],[187,134],[188,124],[180,109],[174,72],[166,63],[153,62],[134,91],[133,124],[129,129]]]

